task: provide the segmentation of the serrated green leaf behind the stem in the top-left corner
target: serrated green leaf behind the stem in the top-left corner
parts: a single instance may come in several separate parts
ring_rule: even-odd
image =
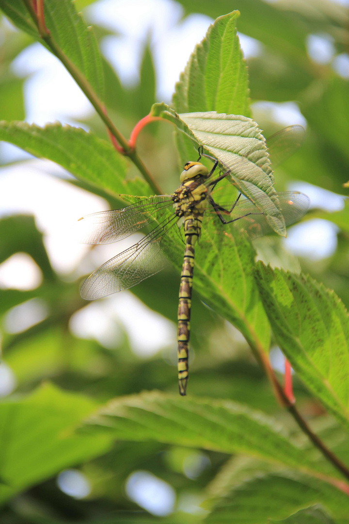
[[[0,8],[17,27],[45,45],[22,0],[0,0]],[[103,100],[102,58],[92,27],[86,26],[71,0],[45,0],[44,19],[50,37],[91,84],[99,99]]]

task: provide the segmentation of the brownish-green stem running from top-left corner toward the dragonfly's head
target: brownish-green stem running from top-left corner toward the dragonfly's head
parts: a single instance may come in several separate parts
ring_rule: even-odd
[[[144,179],[149,183],[152,190],[157,194],[161,194],[162,191],[159,185],[157,185],[151,173],[144,166],[142,160],[139,158],[136,151],[132,149],[132,147],[130,147],[126,138],[123,137],[123,135],[115,127],[114,123],[111,121],[109,116],[106,114],[102,102],[98,99],[98,96],[92,89],[91,85],[88,83],[81,71],[78,70],[76,65],[66,56],[62,49],[58,46],[57,42],[52,38],[50,31],[46,28],[44,23],[42,0],[38,0],[36,4],[37,10],[30,2],[30,0],[24,0],[24,2],[32,19],[35,21],[37,25],[40,37],[44,42],[46,42],[46,45],[51,49],[52,53],[62,62],[65,69],[71,74],[72,78],[75,80],[75,82],[83,91],[83,93],[86,95],[87,99],[91,102],[99,117],[107,126],[107,129],[110,132],[110,134],[113,137],[115,137],[118,143],[121,145],[123,155],[128,156],[130,160],[134,163],[134,165],[137,166],[139,171],[143,174]]]

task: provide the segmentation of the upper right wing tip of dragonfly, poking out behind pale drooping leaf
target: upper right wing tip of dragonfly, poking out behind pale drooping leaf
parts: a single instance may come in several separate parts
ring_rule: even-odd
[[[267,138],[267,148],[273,169],[284,162],[302,145],[306,130],[302,126],[288,126]]]

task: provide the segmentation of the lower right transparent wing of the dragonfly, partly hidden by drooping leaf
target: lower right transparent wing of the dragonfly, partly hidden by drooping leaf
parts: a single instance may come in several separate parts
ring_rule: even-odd
[[[277,195],[286,226],[297,222],[308,211],[310,200],[304,193],[284,191],[277,193]],[[232,221],[231,224],[243,228],[251,238],[273,232],[265,215],[250,200],[240,198],[231,212],[229,212],[229,209],[231,209],[232,203],[222,204],[219,202],[219,204],[227,210],[220,212],[223,219],[227,222]],[[211,209],[207,209],[207,213],[209,215],[216,214],[216,211],[211,206]],[[231,224],[222,224],[221,227],[224,229]]]

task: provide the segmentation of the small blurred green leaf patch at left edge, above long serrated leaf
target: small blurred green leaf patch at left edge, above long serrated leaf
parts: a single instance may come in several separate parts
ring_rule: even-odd
[[[0,120],[22,120],[24,118],[23,81],[18,78],[3,78],[0,82]]]

